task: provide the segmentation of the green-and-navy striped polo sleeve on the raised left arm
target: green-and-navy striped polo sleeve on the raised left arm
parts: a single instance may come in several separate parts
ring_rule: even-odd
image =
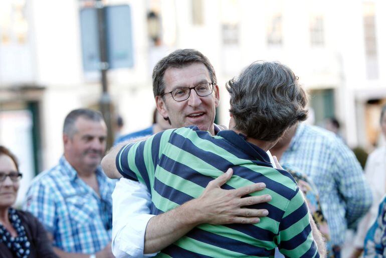
[[[154,170],[162,153],[160,149],[165,146],[172,132],[168,131],[122,147],[115,160],[119,173],[124,178],[139,181],[151,189]]]

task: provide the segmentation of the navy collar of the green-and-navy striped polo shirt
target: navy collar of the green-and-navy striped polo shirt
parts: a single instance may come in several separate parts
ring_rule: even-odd
[[[224,130],[220,131],[218,136],[223,137],[228,142],[232,143],[237,148],[241,149],[244,153],[248,154],[249,156],[266,162],[268,164],[271,164],[268,154],[262,150],[261,148],[257,147],[254,144],[251,144],[247,142],[247,137],[243,134],[237,134],[235,131],[232,130]],[[272,167],[272,165],[270,165]]]

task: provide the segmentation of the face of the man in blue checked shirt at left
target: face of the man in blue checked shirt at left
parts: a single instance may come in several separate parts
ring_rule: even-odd
[[[76,169],[95,170],[106,150],[106,124],[80,116],[74,126],[76,133],[72,138],[63,136],[66,159]]]

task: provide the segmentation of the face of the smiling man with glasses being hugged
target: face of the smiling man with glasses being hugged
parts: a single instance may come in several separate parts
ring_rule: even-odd
[[[180,87],[192,87],[204,82],[212,82],[207,67],[202,63],[192,63],[183,68],[166,69],[163,81],[165,91]],[[175,101],[171,94],[156,96],[157,108],[163,117],[169,117],[173,128],[197,125],[200,130],[214,134],[216,107],[220,102],[219,86],[214,86],[212,94],[201,97],[192,89],[188,99]]]

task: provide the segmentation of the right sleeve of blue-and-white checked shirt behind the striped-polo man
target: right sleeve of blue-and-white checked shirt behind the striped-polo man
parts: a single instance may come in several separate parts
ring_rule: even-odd
[[[370,208],[371,190],[353,152],[340,140],[336,142],[332,176],[345,201],[347,226],[353,228]]]

